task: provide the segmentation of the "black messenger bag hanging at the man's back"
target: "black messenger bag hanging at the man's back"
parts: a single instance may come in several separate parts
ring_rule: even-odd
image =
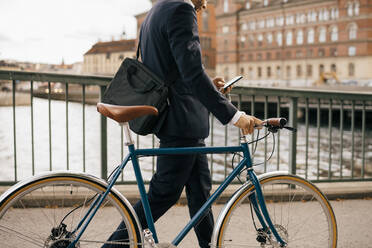
[[[136,134],[157,133],[168,113],[169,86],[178,78],[178,70],[173,70],[162,80],[151,72],[139,58],[139,41],[136,59],[125,58],[119,70],[106,89],[102,102],[121,105],[150,105],[158,109],[159,115],[147,115],[129,121],[130,129]]]

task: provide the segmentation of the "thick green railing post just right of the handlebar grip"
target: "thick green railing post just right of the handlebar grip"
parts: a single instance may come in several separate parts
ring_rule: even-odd
[[[289,100],[289,126],[297,129],[297,104],[298,98],[293,97]],[[297,133],[289,133],[289,166],[288,170],[291,174],[296,174],[296,155],[297,155]]]

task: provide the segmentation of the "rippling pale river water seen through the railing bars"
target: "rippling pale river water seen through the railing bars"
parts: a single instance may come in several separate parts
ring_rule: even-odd
[[[34,98],[34,167],[35,173],[50,170],[67,169],[67,141],[66,141],[66,104],[63,101],[51,101],[51,160],[49,155],[49,112],[48,101]],[[68,132],[69,132],[69,169],[83,171],[83,108],[80,103],[68,104]],[[85,107],[85,171],[87,173],[100,176],[100,116],[95,106],[86,105]],[[214,146],[225,145],[225,127],[217,120],[214,123]],[[121,129],[111,120],[108,120],[108,171],[110,172],[121,161]],[[319,170],[320,178],[328,176],[329,171],[329,139],[328,127],[320,129],[320,151],[319,163],[317,146],[317,129],[309,129],[308,147],[308,171],[309,178],[316,178]],[[262,135],[264,131],[261,131]],[[305,127],[299,124],[298,146],[297,146],[297,171],[300,175],[305,175],[306,171],[306,146],[305,146]],[[227,128],[227,145],[238,144],[238,131],[233,126]],[[343,164],[340,166],[340,131],[332,128],[332,155],[331,155],[331,176],[348,177],[351,175],[351,132],[344,130],[343,135]],[[152,136],[139,137],[141,148],[152,147],[153,142],[157,146],[157,140],[153,141]],[[210,144],[210,138],[207,139]],[[17,144],[17,180],[28,178],[32,175],[32,138],[31,138],[31,108],[30,106],[16,107],[16,144]],[[276,141],[276,145],[278,141]],[[362,167],[362,134],[356,130],[354,137],[354,176],[360,176]],[[137,143],[138,145],[138,143]],[[270,155],[273,147],[272,136],[267,140],[267,152]],[[277,149],[271,160],[267,162],[266,169],[263,165],[257,166],[257,171],[264,172],[277,170],[288,170],[288,147],[289,131],[280,133],[279,159],[277,159]],[[14,150],[13,150],[13,110],[12,107],[0,107],[0,181],[12,181],[15,178],[14,170]],[[254,161],[259,163],[264,160],[265,142],[258,144]],[[124,155],[127,153],[124,150]],[[224,178],[226,170],[225,160],[231,164],[231,155],[213,155],[213,179],[221,180]],[[152,157],[141,158],[140,164],[145,180],[149,180],[152,174]],[[235,161],[235,164],[237,160]],[[279,165],[279,166],[278,166]],[[227,173],[230,169],[227,169]],[[372,174],[372,130],[367,128],[365,134],[365,175],[371,177]],[[134,180],[132,170],[128,167],[124,171],[125,180]]]

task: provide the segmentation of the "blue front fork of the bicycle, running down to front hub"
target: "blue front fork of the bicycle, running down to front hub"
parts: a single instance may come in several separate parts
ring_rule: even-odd
[[[280,247],[286,247],[287,243],[280,237],[278,231],[271,221],[269,212],[266,208],[265,199],[262,194],[260,182],[256,174],[253,172],[253,169],[248,169],[248,176],[256,190],[256,194],[252,194],[251,196],[249,196],[249,199],[253,205],[254,212],[260,224],[262,225],[263,230],[270,229],[271,232],[274,234],[275,239],[280,243]]]

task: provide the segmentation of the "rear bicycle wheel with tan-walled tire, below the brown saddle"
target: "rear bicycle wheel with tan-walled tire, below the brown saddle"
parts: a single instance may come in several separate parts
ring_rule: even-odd
[[[106,187],[99,178],[67,172],[48,173],[16,184],[0,198],[0,247],[67,247],[76,237],[72,230]],[[60,225],[62,220],[65,228]],[[107,241],[121,221],[128,239]],[[112,189],[75,247],[110,243],[140,248],[142,236],[130,203]]]

